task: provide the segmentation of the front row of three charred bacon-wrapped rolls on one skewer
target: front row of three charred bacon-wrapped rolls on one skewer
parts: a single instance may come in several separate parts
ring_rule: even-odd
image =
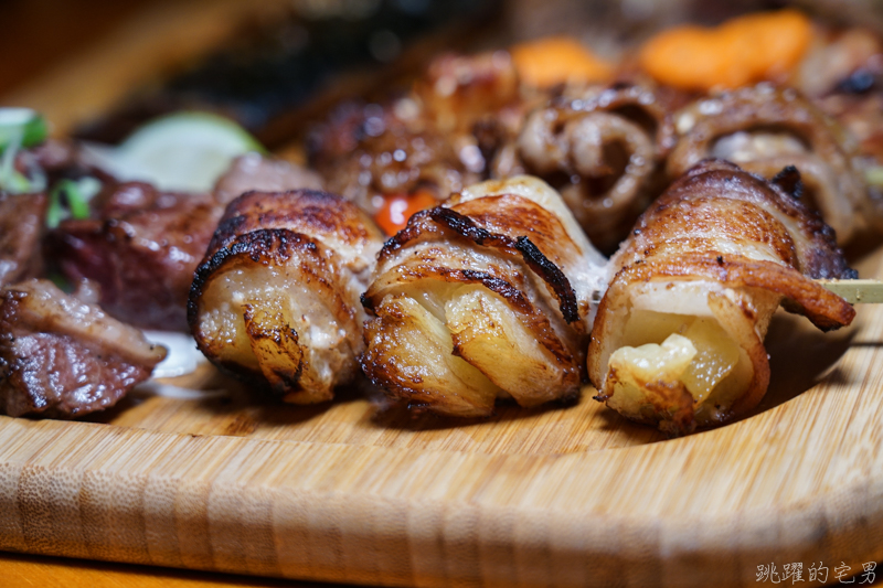
[[[588,375],[598,399],[626,417],[689,432],[732,420],[764,396],[763,340],[779,304],[823,330],[854,317],[812,281],[855,272],[799,192],[796,168],[767,182],[730,162],[703,161],[643,214],[606,264],[547,184],[530,177],[488,181],[414,215],[380,250],[370,285],[362,274],[338,298],[328,293],[333,275],[304,272],[315,258],[265,249],[280,248],[276,227],[296,226],[294,211],[319,194],[251,193],[230,206],[210,249],[217,253],[198,272],[191,324],[215,363],[263,374],[289,402],[330,398],[363,349],[365,375],[412,407],[486,416],[498,398],[534,406],[575,395]],[[334,218],[327,227],[351,226],[343,222],[349,203],[320,200]],[[298,231],[328,239],[313,224],[304,221]],[[371,265],[360,259],[362,270]],[[321,341],[301,341],[298,333],[305,324],[344,323],[361,333],[340,312],[360,314],[355,300],[365,286],[364,348],[351,343],[341,377],[311,394],[315,378],[300,375],[300,366],[329,365],[317,355],[327,353],[322,341],[334,339],[326,332]]]

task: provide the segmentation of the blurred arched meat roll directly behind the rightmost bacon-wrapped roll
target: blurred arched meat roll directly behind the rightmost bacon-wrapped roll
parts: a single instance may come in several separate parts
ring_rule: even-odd
[[[794,89],[758,84],[702,98],[675,115],[678,143],[668,161],[673,180],[701,160],[714,157],[772,179],[795,165],[808,205],[821,212],[841,243],[860,218],[866,199],[854,168],[852,137]]]

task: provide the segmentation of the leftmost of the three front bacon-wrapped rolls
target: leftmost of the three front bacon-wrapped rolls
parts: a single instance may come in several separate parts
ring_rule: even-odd
[[[331,399],[359,371],[359,295],[382,243],[371,220],[333,194],[243,194],[227,205],[190,290],[199,349],[285,402]]]

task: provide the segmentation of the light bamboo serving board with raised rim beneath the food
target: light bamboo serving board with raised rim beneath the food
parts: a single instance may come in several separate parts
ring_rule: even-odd
[[[12,101],[70,128],[217,42],[242,4],[164,4]],[[768,349],[756,414],[673,440],[592,389],[413,419],[360,391],[263,403],[209,367],[173,382],[220,391],[201,399],[0,417],[0,549],[402,586],[736,586],[762,565],[833,580],[883,562],[883,308],[829,334],[781,313]]]

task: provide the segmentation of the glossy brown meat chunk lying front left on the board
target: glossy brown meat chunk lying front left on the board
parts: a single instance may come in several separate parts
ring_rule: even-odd
[[[166,350],[46,280],[0,290],[0,410],[74,417],[114,406]]]

